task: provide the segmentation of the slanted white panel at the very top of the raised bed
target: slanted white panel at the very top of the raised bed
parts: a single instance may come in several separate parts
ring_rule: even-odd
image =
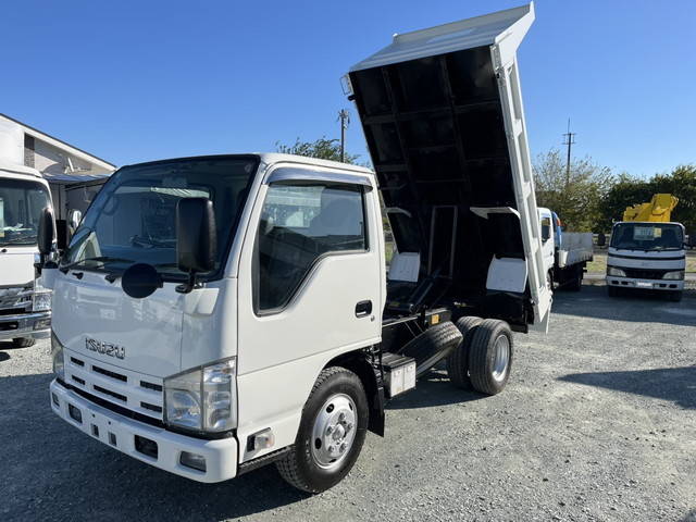
[[[534,22],[533,2],[428,29],[397,34],[394,35],[389,46],[353,65],[350,71],[490,46],[500,44],[506,38],[515,40],[513,47],[517,49],[532,22]]]

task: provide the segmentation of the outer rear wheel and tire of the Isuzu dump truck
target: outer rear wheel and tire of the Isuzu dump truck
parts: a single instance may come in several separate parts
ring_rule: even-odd
[[[474,331],[469,348],[471,385],[477,391],[502,391],[512,366],[512,331],[505,321],[486,319]]]

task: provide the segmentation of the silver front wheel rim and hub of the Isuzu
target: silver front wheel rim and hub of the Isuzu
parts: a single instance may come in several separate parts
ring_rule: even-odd
[[[355,438],[356,403],[345,394],[331,396],[314,419],[312,459],[321,468],[336,468],[349,453]]]

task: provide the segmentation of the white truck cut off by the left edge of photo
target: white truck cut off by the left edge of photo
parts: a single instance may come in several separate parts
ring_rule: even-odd
[[[0,341],[29,347],[50,335],[51,295],[34,266],[48,183],[28,166],[0,162]]]

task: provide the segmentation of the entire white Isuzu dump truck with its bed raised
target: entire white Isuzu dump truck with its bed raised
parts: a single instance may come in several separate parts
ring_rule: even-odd
[[[376,173],[275,153],[114,173],[42,266],[52,410],[195,481],[275,462],[321,492],[439,361],[500,391],[511,331],[545,330],[551,300],[515,61],[532,21],[527,5],[397,36],[355,66]]]

